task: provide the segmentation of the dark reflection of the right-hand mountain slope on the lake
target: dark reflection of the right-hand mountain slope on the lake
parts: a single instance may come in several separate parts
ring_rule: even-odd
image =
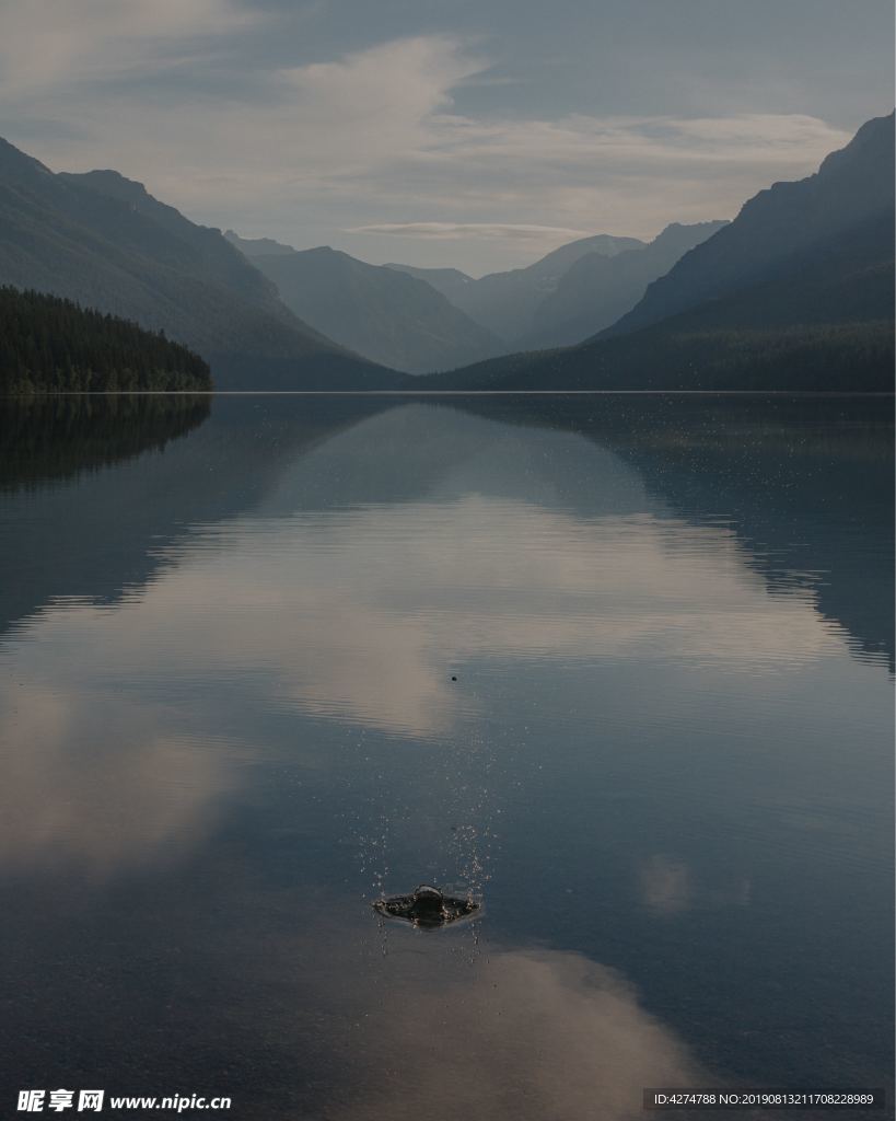
[[[514,396],[463,408],[612,450],[672,512],[730,526],[773,590],[811,586],[819,612],[893,668],[892,398]]]

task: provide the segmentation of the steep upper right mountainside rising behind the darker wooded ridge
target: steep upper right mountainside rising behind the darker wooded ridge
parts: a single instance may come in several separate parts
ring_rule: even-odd
[[[745,288],[813,244],[892,213],[893,130],[893,113],[874,118],[814,175],[760,191],[734,222],[652,284],[613,333],[634,331]]]

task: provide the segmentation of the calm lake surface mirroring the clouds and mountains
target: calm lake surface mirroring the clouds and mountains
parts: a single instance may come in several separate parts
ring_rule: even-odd
[[[892,1090],[890,408],[4,409],[2,1115]]]

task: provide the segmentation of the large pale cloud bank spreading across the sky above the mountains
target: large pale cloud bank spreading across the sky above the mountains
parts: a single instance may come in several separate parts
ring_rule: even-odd
[[[456,93],[488,81],[492,59],[460,36],[252,65],[245,43],[276,24],[236,0],[16,6],[0,39],[7,132],[52,167],[114,166],[249,235],[389,259],[403,234],[421,253],[464,247],[480,269],[534,243],[731,216],[848,139],[794,113],[461,113]]]

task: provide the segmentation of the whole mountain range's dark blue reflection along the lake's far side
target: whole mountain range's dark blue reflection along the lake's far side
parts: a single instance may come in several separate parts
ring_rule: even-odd
[[[143,401],[4,416],[13,438],[0,483],[16,549],[0,559],[0,626],[54,597],[114,602],[151,580],[190,527],[250,509],[394,504],[485,484],[532,502],[543,493],[585,518],[643,510],[646,498],[693,524],[721,521],[773,589],[810,585],[860,650],[893,660],[888,401],[218,398],[198,429],[204,405]],[[496,441],[485,473],[478,457]]]

